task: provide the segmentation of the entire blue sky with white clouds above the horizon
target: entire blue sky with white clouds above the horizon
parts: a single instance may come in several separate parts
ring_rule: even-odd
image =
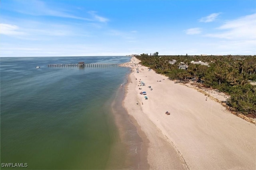
[[[1,0],[0,56],[256,55],[256,0]]]

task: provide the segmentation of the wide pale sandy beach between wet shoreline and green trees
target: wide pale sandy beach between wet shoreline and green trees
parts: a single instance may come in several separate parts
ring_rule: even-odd
[[[142,141],[148,143],[145,153],[150,169],[256,169],[254,124],[211,98],[206,100],[197,90],[137,63],[132,57],[123,64],[132,72],[122,105],[143,132]]]

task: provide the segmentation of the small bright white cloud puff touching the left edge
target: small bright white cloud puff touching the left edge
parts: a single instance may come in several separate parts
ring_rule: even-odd
[[[19,31],[17,25],[11,25],[7,23],[0,23],[0,34],[4,35],[24,35],[24,32]]]

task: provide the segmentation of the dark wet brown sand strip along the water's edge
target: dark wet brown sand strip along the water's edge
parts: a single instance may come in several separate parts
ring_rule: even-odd
[[[125,82],[118,88],[111,104],[111,117],[116,124],[117,142],[110,151],[106,169],[149,169],[146,158],[149,141],[136,124],[134,117],[130,116],[122,106],[127,85],[128,83]]]

